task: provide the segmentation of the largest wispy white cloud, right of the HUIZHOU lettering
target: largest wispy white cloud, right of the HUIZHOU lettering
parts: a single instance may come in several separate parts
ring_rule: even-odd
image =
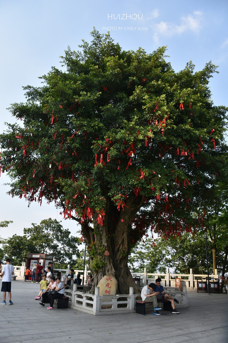
[[[198,33],[201,28],[202,13],[199,11],[193,12],[193,15],[189,14],[186,17],[180,18],[180,24],[169,22],[160,22],[153,26],[154,39],[158,42],[159,36],[171,37],[174,35],[180,35],[187,31]]]

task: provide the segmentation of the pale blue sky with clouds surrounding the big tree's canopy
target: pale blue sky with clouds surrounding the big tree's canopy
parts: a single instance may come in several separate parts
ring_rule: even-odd
[[[93,26],[100,32],[110,30],[124,50],[139,46],[148,53],[167,45],[167,58],[175,71],[188,61],[202,69],[210,60],[219,74],[210,81],[215,105],[228,106],[228,2],[225,0],[154,1],[154,0],[0,0],[0,130],[4,122],[14,122],[7,107],[23,102],[22,86],[40,84],[38,76],[52,66],[60,68],[59,56],[67,46],[77,50],[81,39],[90,41]],[[115,19],[117,18],[117,19]],[[137,19],[135,19],[137,18]],[[23,199],[5,195],[6,174],[0,178],[2,220],[13,220],[0,229],[4,238],[23,234],[24,227],[44,218],[61,220],[60,210],[45,203],[28,208]],[[72,234],[78,230],[74,221],[62,222]]]

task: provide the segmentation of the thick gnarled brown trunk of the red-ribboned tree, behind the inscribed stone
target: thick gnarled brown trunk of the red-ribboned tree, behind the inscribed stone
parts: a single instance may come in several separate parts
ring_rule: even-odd
[[[117,210],[116,206],[107,203],[103,225],[98,224],[98,215],[93,217],[93,229],[82,226],[83,235],[88,241],[89,267],[93,273],[94,284],[106,274],[112,274],[118,282],[119,294],[129,294],[129,287],[134,293],[141,289],[136,285],[128,267],[128,256],[133,246],[140,238],[132,229],[132,220],[141,202],[132,206],[135,197],[128,199],[126,208]],[[109,253],[107,256],[107,253]]]

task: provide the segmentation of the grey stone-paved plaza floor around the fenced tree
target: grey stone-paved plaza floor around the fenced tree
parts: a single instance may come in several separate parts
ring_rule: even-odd
[[[1,286],[1,281],[0,281]],[[46,310],[34,300],[39,285],[12,281],[12,301],[0,305],[0,342],[227,343],[228,295],[188,292],[180,314],[160,311],[92,316],[74,309]],[[2,293],[1,293],[2,301]],[[47,305],[48,306],[48,305]]]

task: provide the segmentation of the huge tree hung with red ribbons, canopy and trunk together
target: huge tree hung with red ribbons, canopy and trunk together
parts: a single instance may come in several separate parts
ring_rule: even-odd
[[[211,100],[211,62],[175,73],[165,47],[92,37],[11,106],[22,123],[0,136],[2,169],[11,196],[55,201],[81,225],[95,284],[114,274],[124,294],[137,291],[128,256],[148,228],[169,237],[202,225],[191,212],[224,177],[226,108]]]

